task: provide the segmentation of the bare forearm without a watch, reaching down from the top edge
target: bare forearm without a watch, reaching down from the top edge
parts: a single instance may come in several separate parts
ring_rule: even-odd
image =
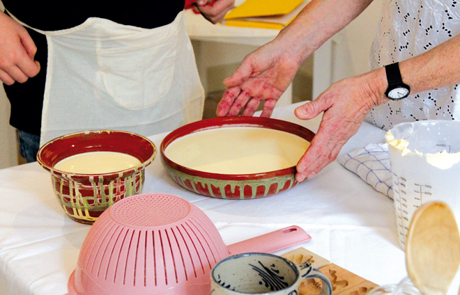
[[[289,52],[303,61],[358,17],[372,1],[312,0],[276,39],[289,45]]]

